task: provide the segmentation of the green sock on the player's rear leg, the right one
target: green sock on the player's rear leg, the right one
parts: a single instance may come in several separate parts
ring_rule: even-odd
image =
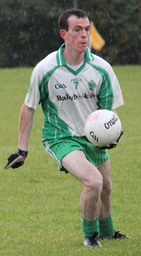
[[[103,237],[110,237],[114,234],[112,216],[107,219],[99,220],[99,231],[100,235]]]

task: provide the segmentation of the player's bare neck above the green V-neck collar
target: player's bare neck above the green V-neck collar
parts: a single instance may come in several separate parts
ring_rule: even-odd
[[[66,63],[68,63],[71,66],[78,66],[85,57],[85,52],[82,53],[76,53],[75,51],[69,51],[66,48],[63,50],[63,58]]]

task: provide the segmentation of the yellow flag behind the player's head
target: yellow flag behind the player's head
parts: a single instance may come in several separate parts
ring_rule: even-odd
[[[92,47],[93,49],[100,51],[103,48],[105,41],[101,37],[101,35],[98,33],[98,31],[96,30],[92,21],[90,22],[90,26],[91,26],[91,29],[90,29],[90,37],[89,37],[88,47],[90,48],[90,50]]]

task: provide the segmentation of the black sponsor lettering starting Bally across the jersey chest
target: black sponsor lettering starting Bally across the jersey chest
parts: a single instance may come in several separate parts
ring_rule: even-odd
[[[84,93],[84,94],[73,94],[72,96],[69,96],[68,94],[65,94],[65,96],[56,95],[58,101],[65,101],[65,100],[77,100],[77,99],[90,99],[95,97],[95,94],[92,93]]]

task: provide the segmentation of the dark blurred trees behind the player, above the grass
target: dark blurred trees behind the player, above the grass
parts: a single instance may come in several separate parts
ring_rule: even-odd
[[[60,48],[58,18],[74,7],[70,0],[0,0],[0,66],[35,66]],[[141,64],[141,1],[77,1],[106,44],[101,52],[110,64]]]

